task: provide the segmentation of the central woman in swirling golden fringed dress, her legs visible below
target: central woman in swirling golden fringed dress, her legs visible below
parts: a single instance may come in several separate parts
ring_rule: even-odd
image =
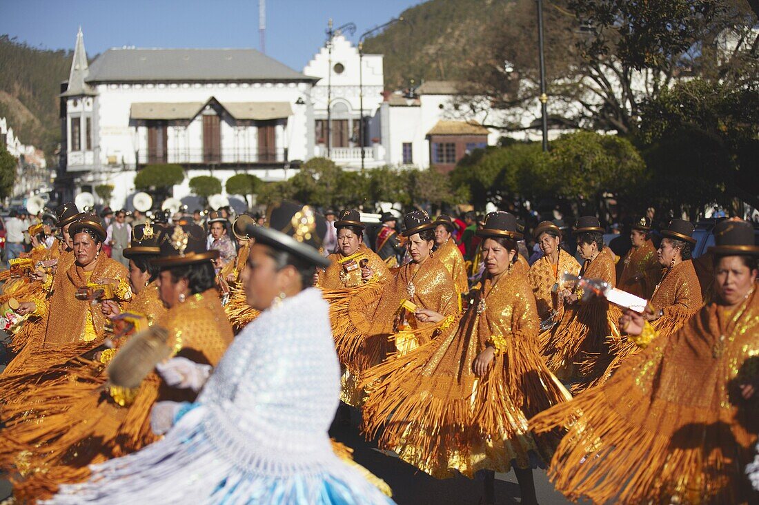
[[[487,470],[484,503],[494,501],[493,472],[513,467],[521,503],[537,503],[531,467],[548,461],[550,447],[527,420],[569,395],[537,347],[534,296],[514,269],[521,238],[514,216],[490,212],[477,234],[486,273],[475,302],[436,340],[364,375],[364,429],[379,431],[380,447],[436,478]],[[444,319],[428,309],[419,317]]]

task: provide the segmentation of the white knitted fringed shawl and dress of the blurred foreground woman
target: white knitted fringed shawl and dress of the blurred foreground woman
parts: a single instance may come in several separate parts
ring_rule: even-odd
[[[263,312],[162,441],[93,466],[48,503],[392,503],[332,452],[328,311],[308,288]]]

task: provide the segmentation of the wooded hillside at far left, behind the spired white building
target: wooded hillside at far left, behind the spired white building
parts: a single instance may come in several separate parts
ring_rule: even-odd
[[[60,141],[58,93],[68,79],[71,55],[0,35],[0,117],[8,119],[21,142],[43,149],[49,161]]]

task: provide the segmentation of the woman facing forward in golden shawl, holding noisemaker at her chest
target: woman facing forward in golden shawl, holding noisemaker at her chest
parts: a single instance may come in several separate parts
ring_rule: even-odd
[[[366,225],[361,222],[361,214],[354,209],[345,209],[334,226],[337,251],[327,256],[331,264],[318,270],[316,286],[333,291],[386,281],[390,275],[386,263],[364,245]]]

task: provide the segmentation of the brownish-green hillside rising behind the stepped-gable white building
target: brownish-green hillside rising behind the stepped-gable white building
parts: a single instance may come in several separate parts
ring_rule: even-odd
[[[429,0],[401,14],[396,23],[364,41],[364,51],[385,55],[385,86],[400,89],[410,80],[464,77],[487,20],[502,17],[512,0]],[[378,20],[379,23],[379,20]]]

